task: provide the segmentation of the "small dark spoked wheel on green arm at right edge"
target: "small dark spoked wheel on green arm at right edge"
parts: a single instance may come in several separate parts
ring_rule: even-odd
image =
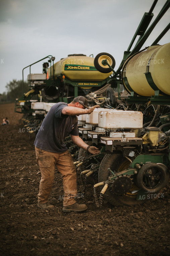
[[[164,164],[146,163],[139,169],[136,181],[141,189],[157,192],[169,181],[168,168]]]

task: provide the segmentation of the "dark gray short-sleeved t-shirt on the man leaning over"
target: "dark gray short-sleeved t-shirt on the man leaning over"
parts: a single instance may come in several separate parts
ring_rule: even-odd
[[[69,134],[78,136],[77,117],[62,114],[67,103],[58,102],[50,108],[37,133],[34,145],[48,152],[63,153],[67,150],[63,142]]]

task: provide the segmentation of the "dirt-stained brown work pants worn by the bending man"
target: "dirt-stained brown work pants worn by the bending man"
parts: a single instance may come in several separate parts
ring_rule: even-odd
[[[64,200],[63,206],[75,203],[77,194],[76,170],[72,157],[67,150],[64,153],[47,152],[35,147],[37,162],[40,166],[41,181],[38,202],[48,202],[54,181],[55,165],[62,175]],[[61,195],[60,195],[61,196]]]

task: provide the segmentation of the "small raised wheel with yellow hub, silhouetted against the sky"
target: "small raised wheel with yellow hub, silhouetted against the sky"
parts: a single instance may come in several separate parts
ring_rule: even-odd
[[[115,67],[115,59],[109,53],[99,53],[94,59],[95,68],[101,73],[109,73],[112,69],[104,63],[107,60],[108,64],[114,68]]]

